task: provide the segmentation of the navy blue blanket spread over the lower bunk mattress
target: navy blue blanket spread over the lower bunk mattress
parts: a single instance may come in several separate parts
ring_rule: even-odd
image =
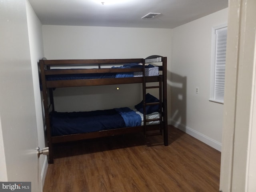
[[[140,115],[130,108],[115,108],[90,112],[51,112],[51,134],[95,132],[131,126],[140,126]]]

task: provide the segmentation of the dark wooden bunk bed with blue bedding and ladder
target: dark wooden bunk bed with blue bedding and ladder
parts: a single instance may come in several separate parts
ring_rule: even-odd
[[[162,134],[164,145],[168,145],[166,57],[42,59],[39,70],[49,147],[48,163],[53,163],[53,145],[62,142],[144,132],[145,136]],[[148,86],[150,82],[157,82],[157,86]],[[142,84],[143,96],[142,102],[135,105],[135,111],[128,107],[91,112],[56,112],[54,109],[56,88],[137,83]],[[159,90],[159,98],[147,93],[151,88]],[[102,124],[104,126],[100,127]]]

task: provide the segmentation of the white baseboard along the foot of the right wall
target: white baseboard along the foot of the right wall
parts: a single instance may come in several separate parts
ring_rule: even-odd
[[[189,128],[188,126],[185,126],[181,124],[180,122],[176,122],[174,120],[168,120],[168,124],[171,124],[172,126],[182,130],[183,132],[191,135],[192,137],[202,141],[203,143],[211,146],[212,148],[218,150],[221,152],[221,143],[213,140],[212,138],[209,138],[208,136],[205,136],[201,134],[200,132],[197,132],[196,130],[193,130]]]

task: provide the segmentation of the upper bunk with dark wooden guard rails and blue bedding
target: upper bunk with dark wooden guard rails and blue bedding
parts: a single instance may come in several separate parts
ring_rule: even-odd
[[[45,88],[159,82],[166,78],[167,58],[40,60]]]

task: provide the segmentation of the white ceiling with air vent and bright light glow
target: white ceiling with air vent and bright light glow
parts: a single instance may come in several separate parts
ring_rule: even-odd
[[[228,7],[228,0],[28,1],[43,25],[71,26],[175,28]],[[161,14],[142,19],[148,13]]]

